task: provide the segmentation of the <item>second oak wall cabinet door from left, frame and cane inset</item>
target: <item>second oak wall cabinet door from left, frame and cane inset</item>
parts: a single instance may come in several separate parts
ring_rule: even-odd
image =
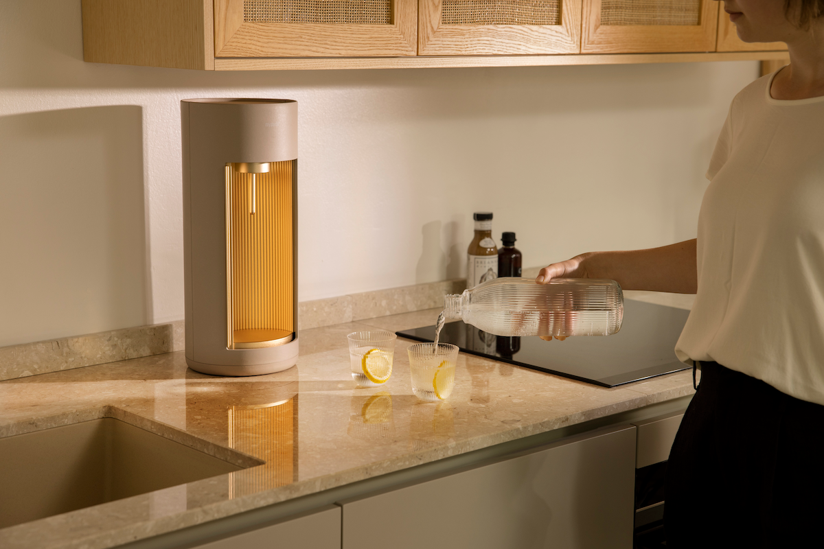
[[[581,0],[420,0],[419,55],[578,54]]]

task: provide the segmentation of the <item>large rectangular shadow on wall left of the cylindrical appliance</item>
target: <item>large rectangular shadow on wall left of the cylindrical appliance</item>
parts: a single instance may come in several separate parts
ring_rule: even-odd
[[[0,347],[147,322],[142,119],[0,117]]]

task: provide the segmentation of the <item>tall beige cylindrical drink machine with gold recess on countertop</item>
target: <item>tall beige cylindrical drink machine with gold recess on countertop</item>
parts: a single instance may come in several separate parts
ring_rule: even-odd
[[[186,363],[212,375],[297,363],[297,102],[180,102]]]

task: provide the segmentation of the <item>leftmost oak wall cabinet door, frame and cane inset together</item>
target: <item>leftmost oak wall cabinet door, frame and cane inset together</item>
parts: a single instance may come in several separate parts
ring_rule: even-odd
[[[417,0],[215,0],[216,58],[416,53]]]

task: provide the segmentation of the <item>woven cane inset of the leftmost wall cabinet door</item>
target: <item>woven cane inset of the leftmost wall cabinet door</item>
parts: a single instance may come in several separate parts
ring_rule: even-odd
[[[247,23],[391,25],[391,0],[244,0]]]

